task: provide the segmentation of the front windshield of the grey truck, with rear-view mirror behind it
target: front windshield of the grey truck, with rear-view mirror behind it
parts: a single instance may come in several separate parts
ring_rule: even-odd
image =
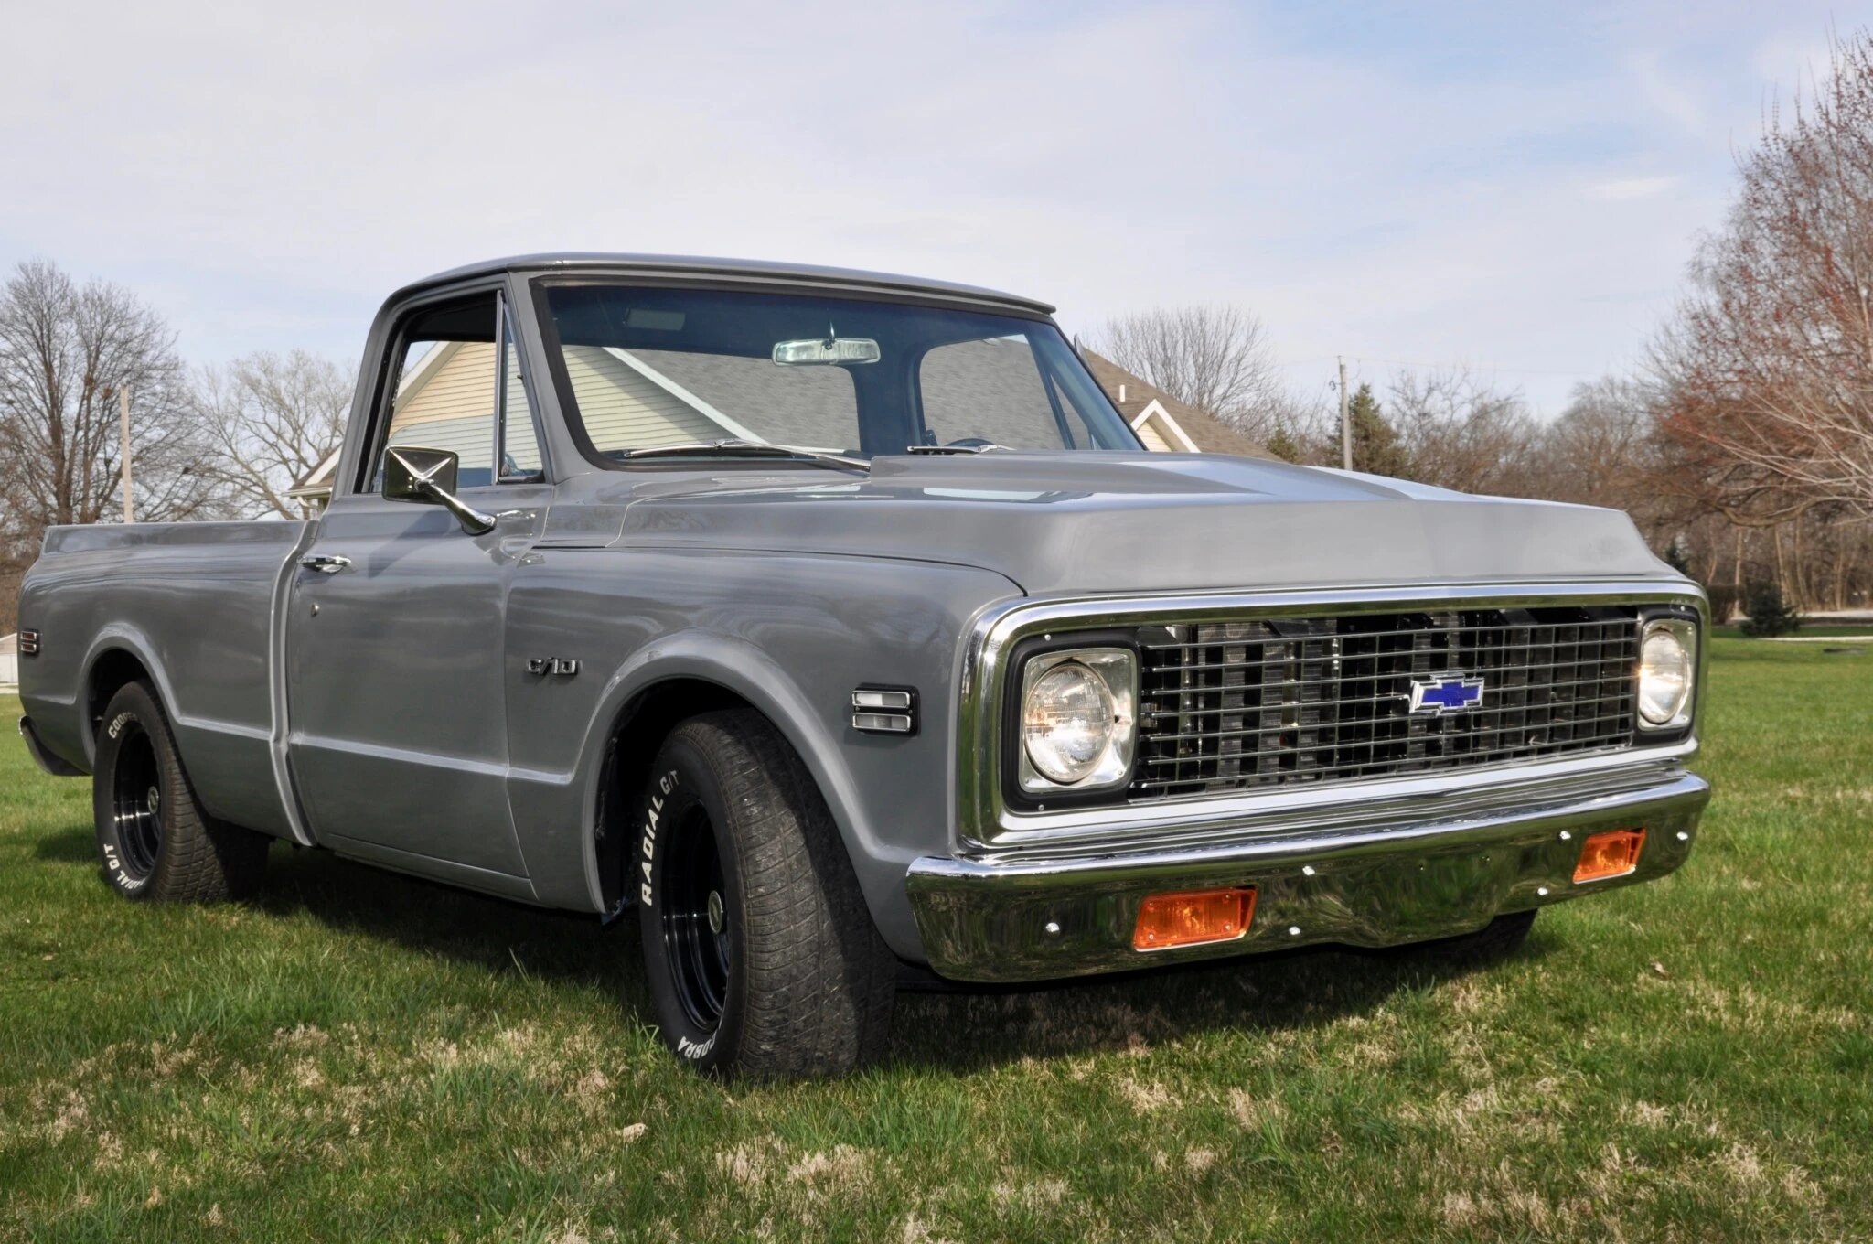
[[[1043,320],[624,285],[547,285],[545,309],[571,423],[611,461],[721,442],[848,457],[1139,448]]]

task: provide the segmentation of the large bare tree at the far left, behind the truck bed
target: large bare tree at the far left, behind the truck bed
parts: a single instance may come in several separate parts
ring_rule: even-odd
[[[36,545],[54,523],[122,510],[116,392],[131,392],[140,519],[215,510],[204,442],[169,326],[131,292],[79,287],[45,260],[0,290],[0,508]]]

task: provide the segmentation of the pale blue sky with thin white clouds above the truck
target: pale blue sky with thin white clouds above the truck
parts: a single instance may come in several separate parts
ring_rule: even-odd
[[[401,283],[601,249],[1240,304],[1326,395],[1643,363],[1841,4],[0,0],[0,270],[193,362],[356,365]]]

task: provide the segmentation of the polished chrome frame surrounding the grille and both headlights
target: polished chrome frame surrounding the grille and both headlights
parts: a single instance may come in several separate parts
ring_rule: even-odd
[[[1394,613],[1401,609],[1478,609],[1493,605],[1682,605],[1697,613],[1708,635],[1708,603],[1703,588],[1682,579],[1605,583],[1480,583],[1414,585],[1382,588],[1322,588],[1279,592],[1231,592],[1189,596],[1137,596],[1096,600],[1017,600],[983,611],[965,652],[957,706],[957,837],[963,851],[1054,851],[1137,845],[1165,832],[1238,834],[1255,824],[1279,828],[1296,811],[1320,806],[1382,804],[1397,798],[1452,794],[1470,789],[1515,787],[1526,781],[1605,774],[1678,761],[1697,751],[1695,731],[1671,744],[1635,742],[1616,751],[1564,757],[1543,763],[1512,763],[1446,770],[1410,778],[1371,778],[1281,787],[1225,796],[1116,802],[1092,807],[1015,811],[1002,798],[1000,764],[1002,697],[1015,671],[1011,648],[1030,635],[1114,629],[1152,622],[1212,622],[1304,615]],[[1710,644],[1699,643],[1695,703],[1704,693]]]

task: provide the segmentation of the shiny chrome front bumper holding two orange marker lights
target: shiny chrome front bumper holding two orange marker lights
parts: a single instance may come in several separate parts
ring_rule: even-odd
[[[907,890],[931,969],[953,980],[1051,980],[1311,942],[1394,946],[1663,877],[1691,854],[1708,800],[1708,783],[1680,770],[1630,789],[1380,828],[1071,858],[925,856]],[[1635,871],[1573,881],[1588,834],[1641,826]],[[1255,886],[1244,937],[1131,948],[1144,896],[1210,886]]]

